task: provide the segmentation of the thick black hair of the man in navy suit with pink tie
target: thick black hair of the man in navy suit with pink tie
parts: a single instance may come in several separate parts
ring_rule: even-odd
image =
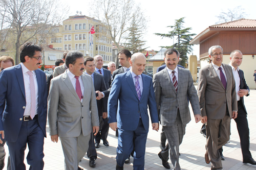
[[[19,53],[19,60],[20,62],[24,63],[25,56],[33,57],[35,55],[35,52],[41,52],[42,47],[40,45],[34,44],[33,42],[29,41],[26,42],[20,47],[20,53]]]

